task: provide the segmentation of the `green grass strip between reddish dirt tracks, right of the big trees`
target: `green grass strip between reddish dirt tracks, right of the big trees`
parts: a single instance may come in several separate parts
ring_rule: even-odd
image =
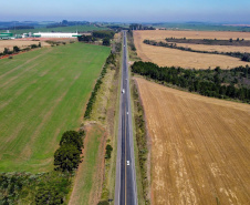
[[[102,177],[98,172],[101,172],[104,161],[101,156],[103,156],[105,133],[103,127],[95,123],[87,124],[85,130],[84,158],[76,173],[75,186],[69,203],[72,205],[88,205],[93,201],[97,202],[98,198],[93,191],[102,188],[96,180],[100,180],[100,176]]]

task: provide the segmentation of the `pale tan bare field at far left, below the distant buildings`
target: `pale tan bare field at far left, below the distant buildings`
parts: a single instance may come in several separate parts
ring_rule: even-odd
[[[0,40],[0,52],[3,52],[4,48],[9,50],[13,50],[13,47],[19,47],[20,49],[24,49],[31,44],[39,44],[40,41],[21,41],[21,40]],[[50,44],[46,42],[41,42],[42,47],[49,47]]]

